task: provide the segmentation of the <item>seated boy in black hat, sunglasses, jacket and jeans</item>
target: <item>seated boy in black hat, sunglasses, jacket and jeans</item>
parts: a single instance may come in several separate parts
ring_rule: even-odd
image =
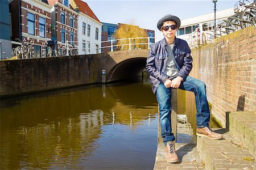
[[[196,98],[196,135],[209,139],[221,139],[222,135],[209,128],[210,111],[204,82],[188,76],[192,69],[191,50],[186,41],[177,39],[175,33],[180,27],[180,19],[166,15],[157,24],[164,39],[151,46],[146,69],[150,74],[153,92],[159,105],[161,135],[166,146],[169,163],[179,162],[171,129],[171,88],[192,91]]]

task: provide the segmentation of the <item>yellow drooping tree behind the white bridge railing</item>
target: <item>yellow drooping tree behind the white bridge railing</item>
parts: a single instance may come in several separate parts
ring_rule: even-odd
[[[113,37],[117,39],[127,39],[127,40],[118,40],[117,49],[127,50],[130,48],[129,44],[131,43],[131,49],[147,49],[148,39],[133,39],[137,37],[147,37],[147,32],[139,28],[137,25],[133,24],[119,24],[118,29],[115,31]],[[131,38],[131,39],[129,39]],[[125,45],[126,44],[126,45]]]

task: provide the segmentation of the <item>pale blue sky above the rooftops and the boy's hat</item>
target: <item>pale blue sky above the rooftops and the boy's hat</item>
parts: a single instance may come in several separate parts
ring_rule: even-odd
[[[83,0],[85,1],[85,0]],[[155,30],[155,37],[163,37],[156,27],[160,18],[166,14],[176,15],[180,20],[213,12],[212,0],[200,1],[85,1],[94,14],[104,23],[134,23],[140,28]],[[238,1],[218,0],[217,11],[234,8]]]

